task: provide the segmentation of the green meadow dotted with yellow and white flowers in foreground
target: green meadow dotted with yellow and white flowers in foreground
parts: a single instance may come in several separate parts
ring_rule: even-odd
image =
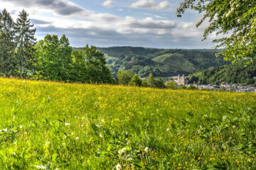
[[[256,169],[256,94],[0,78],[0,169]]]

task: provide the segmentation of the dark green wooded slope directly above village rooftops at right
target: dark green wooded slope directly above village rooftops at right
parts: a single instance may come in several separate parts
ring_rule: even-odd
[[[191,75],[191,84],[245,84],[254,85],[256,77],[256,62],[241,60],[235,64],[211,67]]]

